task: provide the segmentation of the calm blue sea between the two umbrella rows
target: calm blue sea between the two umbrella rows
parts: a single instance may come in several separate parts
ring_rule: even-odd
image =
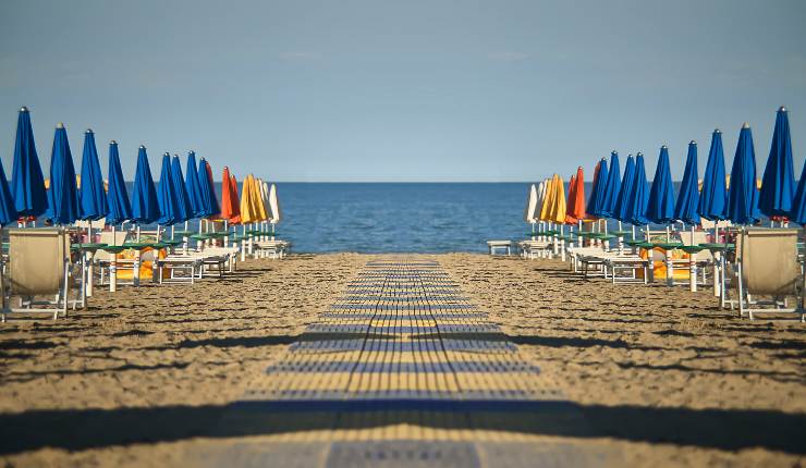
[[[528,184],[278,184],[297,253],[486,251],[523,238]]]

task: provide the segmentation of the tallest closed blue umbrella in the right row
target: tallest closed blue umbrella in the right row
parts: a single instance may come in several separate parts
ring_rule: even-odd
[[[770,157],[767,159],[761,190],[758,194],[758,208],[770,218],[785,217],[792,209],[792,197],[795,194],[792,165],[790,120],[786,116],[786,109],[780,108],[776,115]]]

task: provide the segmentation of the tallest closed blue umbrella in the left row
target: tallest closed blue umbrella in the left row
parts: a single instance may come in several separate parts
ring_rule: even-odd
[[[48,209],[45,177],[36,153],[27,108],[20,109],[16,120],[11,194],[14,197],[14,208],[21,217],[38,217]]]

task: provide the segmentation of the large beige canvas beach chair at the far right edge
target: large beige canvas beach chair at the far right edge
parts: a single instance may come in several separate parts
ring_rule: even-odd
[[[736,237],[740,317],[794,312],[804,321],[804,274],[797,253],[798,230],[748,229]],[[759,296],[766,299],[759,299]],[[787,298],[795,297],[795,307]]]

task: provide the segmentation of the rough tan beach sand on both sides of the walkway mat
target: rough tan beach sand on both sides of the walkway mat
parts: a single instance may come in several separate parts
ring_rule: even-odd
[[[223,281],[99,292],[66,320],[3,324],[0,460],[186,466],[255,440],[205,435],[374,258],[252,260]],[[586,282],[553,260],[413,258],[437,259],[595,428],[500,440],[594,445],[619,465],[804,464],[803,324],[738,319],[708,291]]]

